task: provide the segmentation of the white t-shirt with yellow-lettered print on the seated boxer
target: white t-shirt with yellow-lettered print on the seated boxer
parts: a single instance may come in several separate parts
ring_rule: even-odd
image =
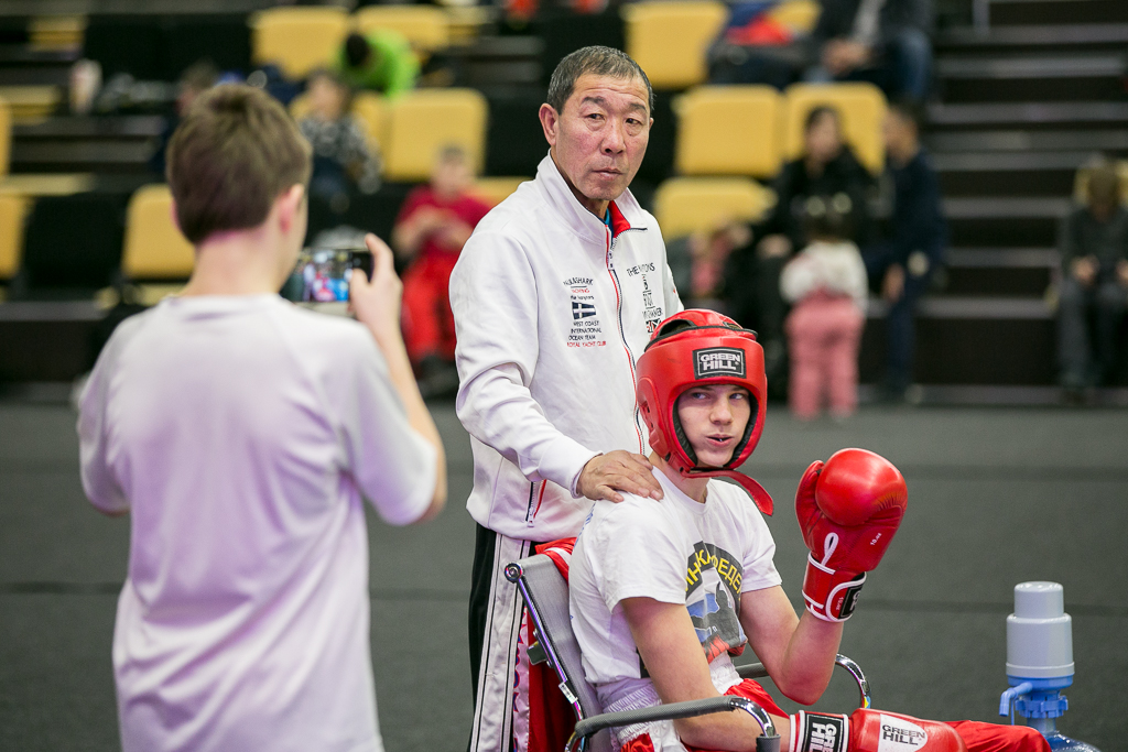
[[[661,502],[632,494],[618,504],[596,502],[572,554],[572,628],[605,711],[660,701],[641,671],[623,599],[684,603],[713,684],[724,692],[740,682],[728,651],[748,642],[739,620],[741,593],[781,583],[775,541],[743,489],[711,480],[700,504],[661,470],[654,476],[664,492]],[[643,732],[659,750],[682,749],[671,722],[617,729],[620,743]]]

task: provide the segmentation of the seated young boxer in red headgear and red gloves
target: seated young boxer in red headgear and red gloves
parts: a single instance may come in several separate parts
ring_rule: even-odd
[[[801,704],[822,695],[843,622],[907,498],[897,469],[865,450],[807,469],[795,506],[811,555],[807,610],[796,617],[760,516],[772,501],[735,469],[760,437],[765,391],[755,334],[712,311],[670,317],[638,359],[638,407],[666,493],[661,501],[626,494],[620,504],[597,502],[571,559],[572,623],[603,709],[725,693],[758,702],[791,752],[1047,752],[1025,727],[870,709],[788,717],[757,682],[739,678],[731,655],[748,644],[784,695]],[[737,480],[755,506],[716,476]],[[623,752],[754,750],[760,734],[744,713],[613,731]]]

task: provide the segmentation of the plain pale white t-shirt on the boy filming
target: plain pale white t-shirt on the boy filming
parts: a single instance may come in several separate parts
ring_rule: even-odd
[[[132,512],[124,750],[381,750],[361,494],[417,520],[435,451],[368,330],[277,295],[167,300],[114,333],[79,436],[91,503]]]

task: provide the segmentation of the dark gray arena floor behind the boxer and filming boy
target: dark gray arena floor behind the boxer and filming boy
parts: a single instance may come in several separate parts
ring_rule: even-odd
[[[389,752],[461,752],[470,720],[466,593],[469,444],[448,406],[451,503],[430,525],[372,521],[372,648]],[[86,504],[74,416],[0,404],[0,749],[117,749],[109,644],[129,520]],[[1005,619],[1023,581],[1065,585],[1076,683],[1065,733],[1125,749],[1128,412],[881,409],[802,426],[773,407],[749,468],[776,498],[776,564],[792,598],[805,551],[791,498],[810,460],[847,445],[893,460],[909,511],[847,625],[843,652],[878,707],[995,720]],[[848,710],[843,676],[819,708]],[[788,707],[785,704],[785,707]],[[793,706],[792,706],[793,707]]]

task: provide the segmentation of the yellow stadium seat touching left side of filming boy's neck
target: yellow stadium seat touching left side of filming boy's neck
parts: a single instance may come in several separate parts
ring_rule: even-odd
[[[147,185],[133,194],[125,214],[122,273],[127,280],[184,280],[192,275],[192,244],[173,220],[167,185]]]

